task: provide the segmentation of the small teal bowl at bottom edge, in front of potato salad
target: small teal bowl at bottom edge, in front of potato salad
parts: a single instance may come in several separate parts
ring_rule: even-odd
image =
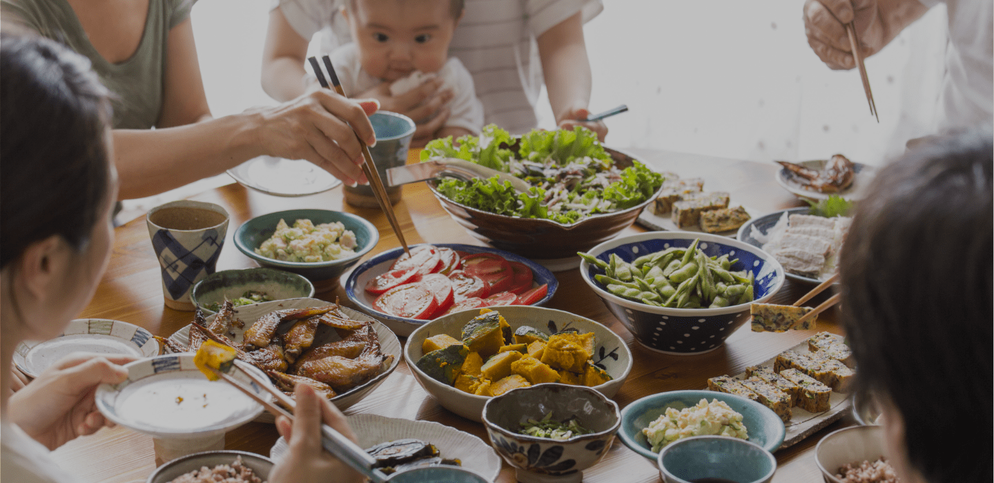
[[[772,453],[753,442],[728,436],[678,439],[659,451],[656,464],[665,483],[768,483],[776,471]]]

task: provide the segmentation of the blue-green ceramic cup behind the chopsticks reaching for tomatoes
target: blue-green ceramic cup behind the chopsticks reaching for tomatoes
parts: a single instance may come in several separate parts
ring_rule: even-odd
[[[408,148],[414,137],[414,121],[410,117],[381,110],[370,116],[370,123],[376,131],[376,146],[370,148],[370,155],[380,173],[380,179],[387,182],[387,170],[404,166],[408,162]],[[390,203],[401,201],[401,187],[388,187],[387,195]],[[346,186],[345,201],[349,205],[362,208],[380,208],[373,195],[373,189],[367,185]]]

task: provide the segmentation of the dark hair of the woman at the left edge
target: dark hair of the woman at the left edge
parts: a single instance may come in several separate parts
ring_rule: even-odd
[[[107,196],[107,90],[89,61],[0,34],[0,266],[59,235],[80,249]]]

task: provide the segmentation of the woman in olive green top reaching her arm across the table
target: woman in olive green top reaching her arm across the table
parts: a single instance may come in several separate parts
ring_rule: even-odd
[[[140,198],[271,155],[306,159],[348,184],[365,183],[361,146],[376,135],[374,101],[329,90],[215,119],[200,76],[192,0],[0,0],[5,23],[87,57],[113,100],[120,199]],[[5,26],[6,27],[6,26]],[[154,129],[151,129],[154,127]]]

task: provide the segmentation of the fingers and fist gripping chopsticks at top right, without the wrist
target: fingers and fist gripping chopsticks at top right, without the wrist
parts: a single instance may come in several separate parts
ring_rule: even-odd
[[[888,38],[888,26],[882,20],[877,0],[807,0],[804,3],[804,32],[808,45],[830,69],[856,67],[846,33],[846,24],[854,20],[864,58],[879,52],[893,38]]]

